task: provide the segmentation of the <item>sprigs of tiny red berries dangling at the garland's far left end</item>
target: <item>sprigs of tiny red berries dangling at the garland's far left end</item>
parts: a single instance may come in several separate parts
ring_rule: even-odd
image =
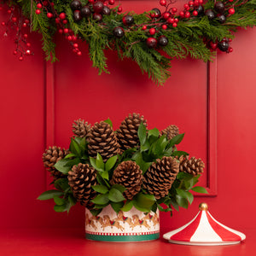
[[[5,7],[0,6],[0,10],[5,10]],[[15,6],[7,7],[6,12],[9,18],[1,22],[1,26],[4,27],[3,37],[8,37],[11,30],[15,31],[15,49],[13,53],[18,56],[20,61],[23,61],[25,56],[33,55],[31,43],[28,41],[30,20],[23,17],[20,9],[15,9]]]

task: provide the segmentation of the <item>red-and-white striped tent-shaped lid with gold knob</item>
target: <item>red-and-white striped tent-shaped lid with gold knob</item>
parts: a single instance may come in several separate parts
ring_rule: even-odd
[[[163,237],[172,243],[202,246],[236,244],[246,238],[241,232],[212,218],[206,203],[201,203],[199,209],[200,212],[188,224],[166,233]]]

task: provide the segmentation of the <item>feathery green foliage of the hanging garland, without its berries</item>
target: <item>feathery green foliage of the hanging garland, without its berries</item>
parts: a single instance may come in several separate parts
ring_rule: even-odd
[[[9,1],[10,3],[19,4],[23,15],[31,16],[31,1]],[[73,20],[73,11],[70,8],[70,1],[55,0],[56,14],[65,12],[67,15],[67,27],[71,28],[75,35],[82,38],[89,45],[89,55],[92,66],[96,67],[99,73],[108,73],[107,49],[114,50],[118,53],[119,59],[124,58],[135,61],[142,70],[142,73],[148,73],[148,78],[152,79],[155,84],[163,85],[171,75],[170,67],[173,58],[183,59],[191,57],[202,61],[212,61],[215,52],[207,48],[205,41],[221,41],[223,38],[234,38],[232,32],[236,32],[237,27],[247,28],[256,25],[256,2],[255,0],[236,1],[236,13],[226,15],[227,19],[224,24],[220,24],[217,19],[208,20],[207,15],[193,16],[189,19],[181,19],[177,27],[168,26],[166,30],[161,28],[165,20],[152,20],[149,12],[137,15],[130,12],[129,15],[134,17],[133,26],[124,26],[122,18],[126,14],[118,14],[117,7],[113,8],[110,15],[103,15],[102,22],[89,18],[75,22]],[[81,1],[87,4],[86,0]],[[205,9],[213,9],[215,1],[208,0],[204,3]],[[226,2],[227,10],[234,4]],[[40,15],[35,14],[36,2],[32,5],[32,31],[42,34],[43,49],[46,60],[56,61],[54,35],[57,30],[55,19],[48,19],[47,12],[42,9]],[[226,13],[227,14],[227,13]],[[154,21],[154,22],[153,22]],[[168,38],[168,44],[165,47],[149,49],[146,45],[148,32],[142,30],[146,24],[148,29],[156,26],[157,33],[154,38],[165,35]],[[123,38],[115,38],[113,28],[121,26],[125,30]]]

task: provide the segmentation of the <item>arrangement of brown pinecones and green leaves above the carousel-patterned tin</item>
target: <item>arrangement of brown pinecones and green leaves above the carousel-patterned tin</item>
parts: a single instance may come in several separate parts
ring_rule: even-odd
[[[176,145],[183,139],[177,125],[162,131],[148,130],[147,121],[139,113],[126,116],[117,131],[113,131],[109,119],[95,125],[77,119],[73,135],[68,150],[53,146],[43,154],[44,166],[57,189],[46,191],[46,199],[53,193],[56,212],[69,211],[76,202],[96,213],[109,204],[119,212],[127,202],[150,212],[160,203],[175,201],[170,193],[176,188],[184,189],[178,196],[188,195],[192,187],[182,185],[196,183],[195,177],[205,167],[201,159],[177,151]],[[177,139],[172,140],[174,137]],[[180,176],[191,178],[191,183],[182,183],[179,172],[186,172]],[[191,195],[185,198],[189,202]]]

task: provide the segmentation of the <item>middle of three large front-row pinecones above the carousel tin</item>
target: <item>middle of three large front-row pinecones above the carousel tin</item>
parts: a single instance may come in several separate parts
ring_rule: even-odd
[[[120,184],[125,187],[124,196],[131,200],[141,190],[143,183],[143,171],[136,162],[131,160],[121,162],[113,171],[110,181],[113,184]]]

